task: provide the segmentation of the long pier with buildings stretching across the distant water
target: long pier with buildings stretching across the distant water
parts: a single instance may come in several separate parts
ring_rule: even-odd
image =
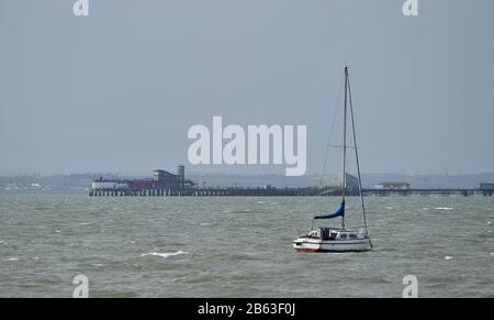
[[[350,179],[351,176],[347,175]],[[356,179],[356,178],[353,178]],[[472,189],[411,189],[406,183],[383,183],[381,187],[362,189],[367,197],[430,197],[461,196],[492,197],[494,184],[480,184]],[[358,184],[350,184],[346,195],[359,196]],[[156,169],[146,179],[103,179],[96,177],[89,191],[90,197],[340,197],[341,187],[200,187],[186,178],[186,167],[179,165],[177,173]]]

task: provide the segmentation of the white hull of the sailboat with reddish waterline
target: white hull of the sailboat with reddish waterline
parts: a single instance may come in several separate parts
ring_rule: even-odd
[[[371,250],[368,238],[351,240],[319,240],[300,238],[293,241],[297,252],[364,252]]]

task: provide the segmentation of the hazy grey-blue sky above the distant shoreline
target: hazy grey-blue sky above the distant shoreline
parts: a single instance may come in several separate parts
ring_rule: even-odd
[[[492,0],[74,2],[0,1],[0,175],[187,165],[213,115],[307,124],[318,173],[344,62],[363,172],[494,170]]]

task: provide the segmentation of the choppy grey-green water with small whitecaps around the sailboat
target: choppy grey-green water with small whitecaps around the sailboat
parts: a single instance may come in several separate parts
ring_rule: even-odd
[[[401,297],[409,274],[420,297],[494,297],[493,198],[370,198],[375,252],[295,253],[337,207],[0,195],[0,297],[71,297],[79,274],[91,297]]]

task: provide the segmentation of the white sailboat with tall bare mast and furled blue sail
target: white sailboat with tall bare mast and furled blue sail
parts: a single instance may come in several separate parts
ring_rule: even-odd
[[[366,206],[362,195],[362,183],[360,175],[359,154],[357,148],[357,137],[355,132],[353,107],[351,102],[351,88],[349,78],[349,67],[345,66],[345,111],[344,111],[344,134],[343,134],[343,200],[339,209],[330,214],[315,216],[313,227],[308,234],[300,236],[293,241],[293,247],[297,252],[366,252],[372,250],[372,243],[369,238],[369,230],[366,217]],[[350,108],[348,108],[350,107]],[[347,214],[346,199],[347,188],[347,121],[348,111],[351,117],[351,128],[353,133],[353,146],[357,159],[358,188],[361,205],[362,222],[357,231],[349,230],[345,227],[345,216]],[[341,218],[340,228],[319,227],[314,229],[314,222],[319,220],[332,220]]]

